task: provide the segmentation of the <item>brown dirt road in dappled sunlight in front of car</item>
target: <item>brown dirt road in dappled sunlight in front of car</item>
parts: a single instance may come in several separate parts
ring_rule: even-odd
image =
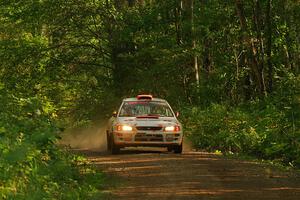
[[[300,199],[300,177],[255,162],[186,151],[81,151],[117,180],[107,199]]]

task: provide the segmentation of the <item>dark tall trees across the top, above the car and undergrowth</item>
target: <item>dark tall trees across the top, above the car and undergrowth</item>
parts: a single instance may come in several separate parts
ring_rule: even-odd
[[[2,74],[43,65],[83,104],[106,90],[242,102],[299,72],[297,1],[2,1],[1,13]]]

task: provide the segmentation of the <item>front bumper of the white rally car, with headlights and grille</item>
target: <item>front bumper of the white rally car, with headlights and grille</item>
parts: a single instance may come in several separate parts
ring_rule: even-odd
[[[114,143],[120,147],[168,147],[182,144],[182,132],[113,132]]]

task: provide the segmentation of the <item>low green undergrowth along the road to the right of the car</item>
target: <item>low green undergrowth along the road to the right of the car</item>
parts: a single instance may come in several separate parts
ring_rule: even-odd
[[[187,136],[199,149],[249,154],[299,167],[299,77],[288,82],[285,95],[235,107],[189,107],[183,112]]]

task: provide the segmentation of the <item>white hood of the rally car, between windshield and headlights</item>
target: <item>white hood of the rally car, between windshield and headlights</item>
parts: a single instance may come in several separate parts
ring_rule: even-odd
[[[176,118],[159,117],[153,118],[136,118],[136,117],[122,117],[118,118],[116,123],[127,124],[132,126],[171,126],[180,125]]]

